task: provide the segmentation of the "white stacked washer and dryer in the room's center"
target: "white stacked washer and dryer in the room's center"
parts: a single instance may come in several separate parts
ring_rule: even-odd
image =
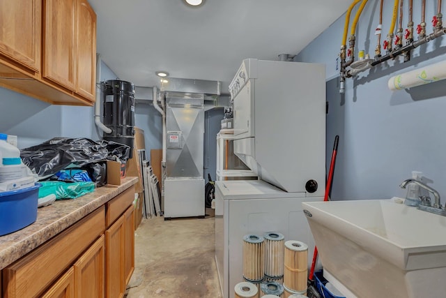
[[[229,89],[234,153],[259,179],[215,182],[224,298],[243,281],[245,234],[280,232],[314,249],[301,202],[321,201],[325,193],[325,66],[245,59]]]

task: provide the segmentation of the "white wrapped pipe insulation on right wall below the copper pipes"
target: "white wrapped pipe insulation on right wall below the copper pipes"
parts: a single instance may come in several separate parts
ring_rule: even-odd
[[[441,61],[401,75],[395,75],[387,82],[387,86],[390,90],[397,91],[444,79],[446,79],[446,61]]]

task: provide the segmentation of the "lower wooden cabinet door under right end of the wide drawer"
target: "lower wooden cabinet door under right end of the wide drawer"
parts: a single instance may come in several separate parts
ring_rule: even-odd
[[[104,297],[105,237],[102,235],[75,262],[75,297]]]

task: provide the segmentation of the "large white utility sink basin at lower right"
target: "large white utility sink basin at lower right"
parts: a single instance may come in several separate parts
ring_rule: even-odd
[[[446,217],[394,200],[303,202],[324,276],[346,297],[445,297]]]

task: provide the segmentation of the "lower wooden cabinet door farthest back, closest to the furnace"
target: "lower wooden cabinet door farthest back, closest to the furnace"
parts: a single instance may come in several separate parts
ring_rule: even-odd
[[[134,270],[134,207],[130,206],[124,214],[125,244],[124,244],[124,281],[128,284]]]

